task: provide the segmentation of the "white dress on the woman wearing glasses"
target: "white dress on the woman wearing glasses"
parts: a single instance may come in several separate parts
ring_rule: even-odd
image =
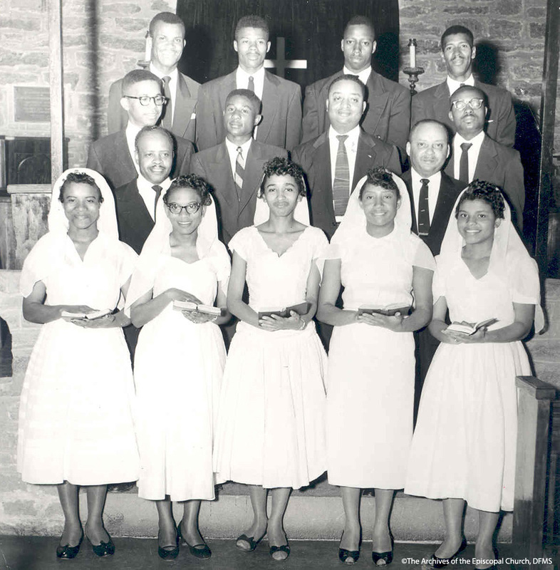
[[[194,263],[161,254],[153,295],[175,287],[213,305],[227,284],[229,255],[215,242]],[[196,324],[168,304],[140,331],[134,378],[138,400],[138,496],[214,499],[212,437],[225,363],[219,326]]]

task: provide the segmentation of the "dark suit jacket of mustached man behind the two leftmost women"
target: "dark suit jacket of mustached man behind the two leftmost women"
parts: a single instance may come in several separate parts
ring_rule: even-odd
[[[146,238],[154,227],[154,221],[138,192],[135,178],[115,190],[118,234],[121,242],[130,245],[137,254],[142,251]]]

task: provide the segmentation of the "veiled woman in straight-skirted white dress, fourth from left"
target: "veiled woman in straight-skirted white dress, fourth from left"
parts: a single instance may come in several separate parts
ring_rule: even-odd
[[[346,564],[360,554],[361,489],[371,487],[372,558],[380,565],[393,559],[388,518],[394,489],[405,485],[413,435],[413,331],[430,321],[435,268],[430,250],[410,232],[410,219],[403,181],[383,168],[368,171],[351,195],[323,269],[317,316],[334,326],[327,470],[328,482],[341,487],[346,522],[338,556]],[[336,306],[341,285],[344,309]],[[390,305],[403,309],[393,315],[358,311]]]

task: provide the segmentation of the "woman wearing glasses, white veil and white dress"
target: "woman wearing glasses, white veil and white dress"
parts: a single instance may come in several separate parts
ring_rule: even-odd
[[[211,551],[198,529],[200,500],[214,499],[212,437],[225,348],[229,255],[217,239],[207,182],[180,176],[157,204],[155,227],[140,254],[128,306],[142,327],[135,352],[140,479],[138,495],[155,501],[158,554],[179,543],[197,558]],[[222,307],[222,315],[174,310],[174,301]],[[185,502],[175,527],[172,501]]]

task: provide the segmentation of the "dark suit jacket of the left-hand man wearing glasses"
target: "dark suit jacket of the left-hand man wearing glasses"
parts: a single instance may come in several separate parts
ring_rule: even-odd
[[[172,178],[190,172],[190,158],[195,152],[190,140],[174,138],[175,160],[171,170]],[[138,172],[133,157],[128,152],[125,130],[92,142],[88,152],[87,167],[103,175],[113,190],[135,180]]]

